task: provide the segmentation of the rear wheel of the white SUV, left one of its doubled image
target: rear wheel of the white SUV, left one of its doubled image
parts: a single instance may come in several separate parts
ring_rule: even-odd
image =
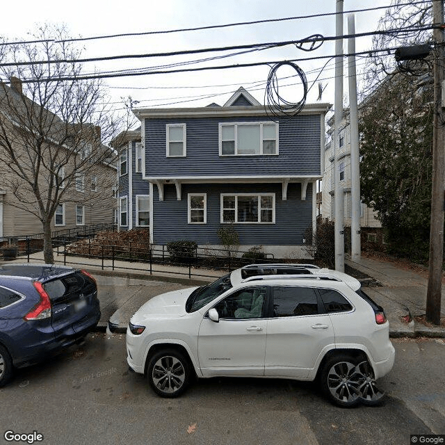
[[[357,359],[341,354],[330,357],[321,371],[321,387],[332,402],[341,407],[360,403],[359,386],[362,376],[356,372]]]

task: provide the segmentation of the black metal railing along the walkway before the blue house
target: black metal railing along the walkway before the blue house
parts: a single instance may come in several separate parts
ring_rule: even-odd
[[[69,239],[68,239],[69,238]],[[274,263],[275,257],[273,254],[266,254],[261,258],[252,259],[242,257],[248,252],[228,252],[224,249],[213,248],[195,248],[191,252],[179,252],[167,249],[165,245],[160,245],[154,248],[147,242],[128,241],[123,243],[108,242],[99,243],[96,239],[83,238],[82,236],[60,236],[53,240],[55,248],[54,254],[57,257],[63,257],[60,262],[64,265],[67,263],[75,266],[99,266],[102,270],[105,269],[121,269],[121,270],[137,270],[149,275],[156,274],[173,274],[186,275],[189,279],[192,277],[212,277],[215,275],[208,275],[199,273],[199,269],[204,270],[227,270],[231,272],[236,268],[252,263]],[[31,254],[37,252],[33,250],[31,243],[26,246],[27,261],[31,260],[42,261],[41,259],[31,258]],[[79,261],[72,261],[76,257]],[[91,264],[82,262],[81,258],[97,259],[98,264]],[[131,262],[131,266],[124,266],[125,263]],[[140,267],[136,264],[140,264]],[[165,266],[170,266],[165,268]]]

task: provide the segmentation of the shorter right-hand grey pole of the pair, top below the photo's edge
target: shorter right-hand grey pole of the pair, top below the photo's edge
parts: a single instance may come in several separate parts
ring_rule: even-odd
[[[348,34],[355,34],[355,17],[348,15]],[[348,39],[348,88],[349,88],[349,127],[350,127],[350,176],[351,176],[351,222],[350,256],[353,261],[360,259],[362,243],[360,239],[360,154],[359,122],[357,104],[357,72],[355,69],[355,37]]]

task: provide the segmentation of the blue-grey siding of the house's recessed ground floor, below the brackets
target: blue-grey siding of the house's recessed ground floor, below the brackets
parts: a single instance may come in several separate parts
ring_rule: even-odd
[[[184,184],[181,201],[175,186],[164,186],[164,200],[159,201],[153,188],[154,243],[188,239],[198,244],[220,244],[220,193],[275,193],[275,224],[234,224],[241,245],[301,245],[305,229],[312,226],[312,184],[307,186],[305,201],[300,184],[289,184],[287,200],[282,200],[281,184]],[[207,224],[187,221],[187,193],[207,193]]]

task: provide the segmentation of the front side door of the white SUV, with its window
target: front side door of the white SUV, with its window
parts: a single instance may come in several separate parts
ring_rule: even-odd
[[[198,337],[202,374],[264,375],[267,288],[236,291],[218,302],[220,321],[204,317]]]

